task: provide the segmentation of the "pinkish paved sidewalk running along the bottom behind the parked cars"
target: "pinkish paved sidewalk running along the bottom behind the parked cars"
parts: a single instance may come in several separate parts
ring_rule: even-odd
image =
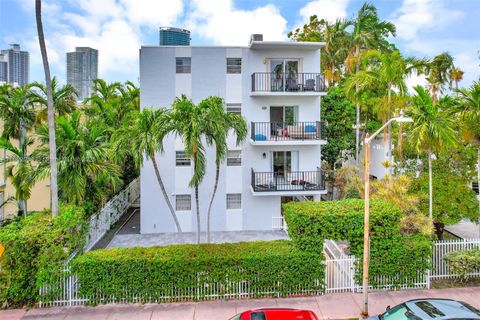
[[[452,298],[480,308],[480,287],[403,290],[370,293],[370,314],[381,313],[388,305],[394,306],[409,299],[426,297]],[[0,311],[0,319],[227,320],[244,310],[261,307],[310,309],[320,319],[347,319],[359,317],[361,304],[361,294],[338,293],[303,298],[7,310]]]

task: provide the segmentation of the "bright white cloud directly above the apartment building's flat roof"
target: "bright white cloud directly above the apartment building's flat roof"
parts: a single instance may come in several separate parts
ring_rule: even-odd
[[[187,27],[217,45],[246,45],[253,33],[265,40],[286,39],[287,20],[273,4],[238,10],[231,0],[192,0]]]

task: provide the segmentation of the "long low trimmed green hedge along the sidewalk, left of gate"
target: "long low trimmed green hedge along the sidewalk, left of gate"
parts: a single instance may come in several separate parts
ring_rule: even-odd
[[[250,296],[320,293],[319,261],[280,240],[95,250],[76,258],[72,271],[92,304],[162,302],[239,297],[239,287]]]

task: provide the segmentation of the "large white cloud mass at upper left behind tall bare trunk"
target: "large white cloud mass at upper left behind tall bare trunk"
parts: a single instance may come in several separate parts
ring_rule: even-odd
[[[22,1],[24,9],[32,12],[33,1]],[[64,80],[66,52],[88,46],[99,50],[99,77],[135,80],[141,29],[175,24],[182,11],[183,0],[44,0],[43,21],[53,74]],[[37,71],[42,62],[36,30],[29,37],[23,43],[31,52],[32,71]]]

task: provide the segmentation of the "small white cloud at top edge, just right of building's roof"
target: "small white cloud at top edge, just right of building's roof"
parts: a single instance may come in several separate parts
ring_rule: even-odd
[[[316,14],[330,22],[347,16],[347,6],[350,0],[315,0],[307,3],[300,9],[301,24],[309,21],[310,16]]]

